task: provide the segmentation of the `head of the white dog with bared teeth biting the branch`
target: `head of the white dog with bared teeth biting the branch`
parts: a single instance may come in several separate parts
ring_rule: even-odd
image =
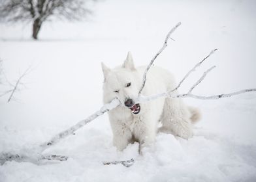
[[[101,66],[104,74],[104,103],[118,98],[121,101],[121,107],[127,107],[133,114],[138,114],[140,105],[135,104],[135,99],[138,97],[142,78],[135,68],[131,53],[128,53],[122,66],[114,69],[108,68],[103,63]]]

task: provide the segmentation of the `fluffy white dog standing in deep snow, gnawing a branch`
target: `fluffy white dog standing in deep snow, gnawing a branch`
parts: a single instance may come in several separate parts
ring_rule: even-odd
[[[122,66],[112,70],[102,63],[104,103],[109,103],[114,98],[121,101],[120,106],[108,112],[113,143],[119,150],[133,142],[139,142],[140,148],[152,144],[157,131],[187,139],[193,136],[191,124],[200,118],[197,109],[187,107],[179,98],[158,98],[147,103],[135,103],[145,68],[146,66],[135,68],[131,53],[128,53]],[[167,92],[175,86],[174,77],[168,70],[152,66],[142,95]],[[159,122],[162,124],[160,128]]]

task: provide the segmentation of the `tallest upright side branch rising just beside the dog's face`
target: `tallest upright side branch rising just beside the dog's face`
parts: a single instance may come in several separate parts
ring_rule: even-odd
[[[163,47],[161,47],[161,49],[159,49],[159,51],[156,53],[156,55],[153,57],[153,59],[150,61],[150,64],[148,64],[145,72],[144,72],[144,75],[142,77],[142,86],[140,88],[140,91],[138,92],[138,97],[140,97],[141,95],[141,92],[146,84],[146,80],[147,80],[147,74],[148,74],[148,70],[150,70],[150,67],[152,66],[153,62],[155,61],[155,59],[157,59],[157,57],[161,54],[161,52],[167,47],[167,43],[168,43],[168,40],[170,38],[170,34],[172,34],[172,32],[176,31],[176,29],[182,25],[182,23],[178,23],[175,27],[173,27],[167,34],[166,38],[165,38],[165,42],[163,44]]]

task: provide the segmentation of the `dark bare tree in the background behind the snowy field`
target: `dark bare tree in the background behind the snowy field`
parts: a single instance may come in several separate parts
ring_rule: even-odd
[[[37,39],[46,20],[54,17],[77,20],[91,13],[85,6],[86,1],[93,0],[0,0],[0,18],[32,22],[32,37]]]

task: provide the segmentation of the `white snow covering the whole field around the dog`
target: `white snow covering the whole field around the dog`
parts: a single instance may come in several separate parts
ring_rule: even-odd
[[[48,22],[39,41],[31,25],[0,25],[3,60],[1,92],[29,72],[20,92],[0,98],[0,152],[30,153],[60,131],[98,110],[102,104],[101,62],[121,64],[127,51],[136,65],[148,64],[167,32],[175,41],[155,64],[177,80],[219,49],[180,89],[185,93],[210,66],[195,89],[212,95],[256,88],[255,1],[99,1],[88,21]],[[199,107],[202,120],[189,140],[157,135],[138,155],[138,144],[118,152],[112,146],[107,114],[93,120],[44,154],[69,156],[65,162],[6,162],[0,181],[256,181],[256,93],[228,99],[184,99]],[[104,161],[135,159],[129,168]]]

